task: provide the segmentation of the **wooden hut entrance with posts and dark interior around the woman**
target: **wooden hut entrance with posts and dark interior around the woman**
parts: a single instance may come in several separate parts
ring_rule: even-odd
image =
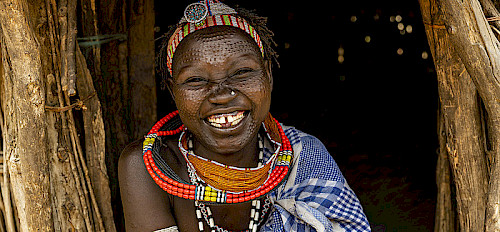
[[[373,231],[500,228],[498,0],[224,2],[268,16],[271,113],[325,144]],[[155,39],[188,3],[0,2],[0,231],[124,230],[117,160],[175,109]]]

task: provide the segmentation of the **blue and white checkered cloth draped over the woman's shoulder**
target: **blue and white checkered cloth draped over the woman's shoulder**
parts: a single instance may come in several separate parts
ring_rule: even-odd
[[[273,205],[260,231],[371,231],[356,194],[325,146],[285,127],[294,161],[287,181],[270,193]],[[265,159],[272,151],[265,150]]]

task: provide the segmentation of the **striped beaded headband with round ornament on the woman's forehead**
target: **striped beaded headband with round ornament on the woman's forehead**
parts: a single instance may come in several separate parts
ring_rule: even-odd
[[[184,10],[184,17],[179,22],[183,25],[175,30],[168,41],[167,68],[170,75],[172,75],[172,59],[175,49],[182,39],[190,33],[207,27],[233,26],[245,31],[255,40],[264,56],[264,48],[257,31],[246,20],[235,14],[237,12],[233,8],[218,0],[202,0],[188,5]]]

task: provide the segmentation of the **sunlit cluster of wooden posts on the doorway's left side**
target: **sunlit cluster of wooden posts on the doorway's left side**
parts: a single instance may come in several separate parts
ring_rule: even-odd
[[[115,231],[99,100],[83,56],[77,54],[78,65],[72,61],[76,19],[68,8],[75,4],[0,0],[2,133],[20,231]],[[72,80],[80,88],[75,103]],[[85,109],[84,140],[75,108]],[[8,183],[2,185],[3,199]],[[12,224],[9,231],[15,231]]]

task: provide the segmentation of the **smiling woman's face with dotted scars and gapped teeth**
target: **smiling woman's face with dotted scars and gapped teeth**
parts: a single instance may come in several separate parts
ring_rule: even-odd
[[[230,154],[256,136],[271,104],[271,75],[244,31],[229,26],[189,34],[173,58],[169,87],[188,130],[212,152]]]

